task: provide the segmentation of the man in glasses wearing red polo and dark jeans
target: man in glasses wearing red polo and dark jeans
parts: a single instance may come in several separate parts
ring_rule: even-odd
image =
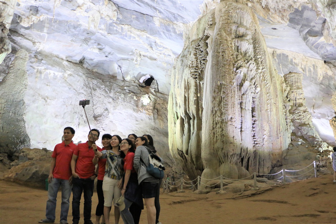
[[[80,219],[79,205],[84,192],[84,224],[93,224],[91,221],[91,204],[93,195],[95,166],[92,163],[94,152],[92,144],[99,138],[99,131],[91,129],[88,141],[78,144],[71,160],[71,170],[73,175],[72,181],[72,222],[78,224]],[[97,147],[99,151],[101,148]]]

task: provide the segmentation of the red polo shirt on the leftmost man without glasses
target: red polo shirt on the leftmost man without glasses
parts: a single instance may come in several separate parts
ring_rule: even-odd
[[[75,148],[76,145],[73,142],[66,145],[63,141],[62,143],[55,145],[54,151],[51,155],[52,158],[56,159],[55,168],[52,172],[54,178],[69,180],[72,175],[70,163]]]

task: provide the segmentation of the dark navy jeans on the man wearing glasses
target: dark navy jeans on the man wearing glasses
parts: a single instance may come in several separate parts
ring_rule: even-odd
[[[92,195],[93,195],[94,180],[90,178],[74,178],[72,181],[72,221],[79,221],[80,212],[79,205],[82,197],[82,192],[84,192],[84,223],[91,220],[91,205],[92,205]]]

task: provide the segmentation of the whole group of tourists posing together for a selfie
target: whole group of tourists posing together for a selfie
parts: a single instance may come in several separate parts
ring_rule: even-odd
[[[55,146],[51,155],[46,218],[39,223],[54,223],[56,197],[61,187],[60,224],[68,224],[71,191],[73,224],[80,220],[82,193],[84,224],[93,224],[91,199],[97,178],[96,224],[110,224],[112,206],[115,224],[119,223],[120,216],[125,224],[138,224],[143,201],[148,224],[161,224],[159,194],[162,179],[146,171],[150,164],[149,155],[157,154],[152,136],[130,134],[122,139],[119,135],[104,134],[100,148],[95,143],[99,139],[99,130],[91,129],[88,140],[78,145],[72,141],[74,135],[75,130],[66,127],[64,141]]]

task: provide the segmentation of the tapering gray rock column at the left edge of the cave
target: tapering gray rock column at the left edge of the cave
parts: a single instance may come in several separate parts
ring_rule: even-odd
[[[25,50],[17,51],[8,74],[0,82],[0,153],[12,155],[15,150],[30,147],[24,119],[27,61],[28,53]]]

